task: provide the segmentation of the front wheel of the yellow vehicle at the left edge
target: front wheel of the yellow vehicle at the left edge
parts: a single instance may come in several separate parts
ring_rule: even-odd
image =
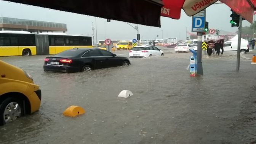
[[[0,104],[0,125],[13,122],[22,116],[22,103],[15,98],[6,98]]]

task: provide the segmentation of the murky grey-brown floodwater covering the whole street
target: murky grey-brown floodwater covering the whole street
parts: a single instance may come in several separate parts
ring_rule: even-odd
[[[202,56],[204,75],[189,77],[189,56],[130,58],[128,67],[60,74],[43,71],[46,56],[1,60],[26,70],[40,85],[42,103],[32,115],[0,127],[1,144],[254,144],[255,51]],[[118,50],[119,56],[128,51]],[[134,95],[118,98],[122,90]],[[62,115],[69,106],[84,115]]]

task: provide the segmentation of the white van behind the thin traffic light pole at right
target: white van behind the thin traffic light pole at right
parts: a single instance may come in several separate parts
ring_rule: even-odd
[[[230,40],[224,42],[224,51],[237,51],[238,40]],[[241,40],[240,51],[243,53],[249,52],[248,40]]]

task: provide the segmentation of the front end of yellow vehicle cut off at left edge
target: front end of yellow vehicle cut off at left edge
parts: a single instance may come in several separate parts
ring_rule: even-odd
[[[0,125],[39,110],[41,90],[22,69],[0,60]]]

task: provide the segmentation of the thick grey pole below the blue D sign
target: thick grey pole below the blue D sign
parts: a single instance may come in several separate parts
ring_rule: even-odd
[[[197,32],[197,74],[203,75],[202,65],[202,32]]]

